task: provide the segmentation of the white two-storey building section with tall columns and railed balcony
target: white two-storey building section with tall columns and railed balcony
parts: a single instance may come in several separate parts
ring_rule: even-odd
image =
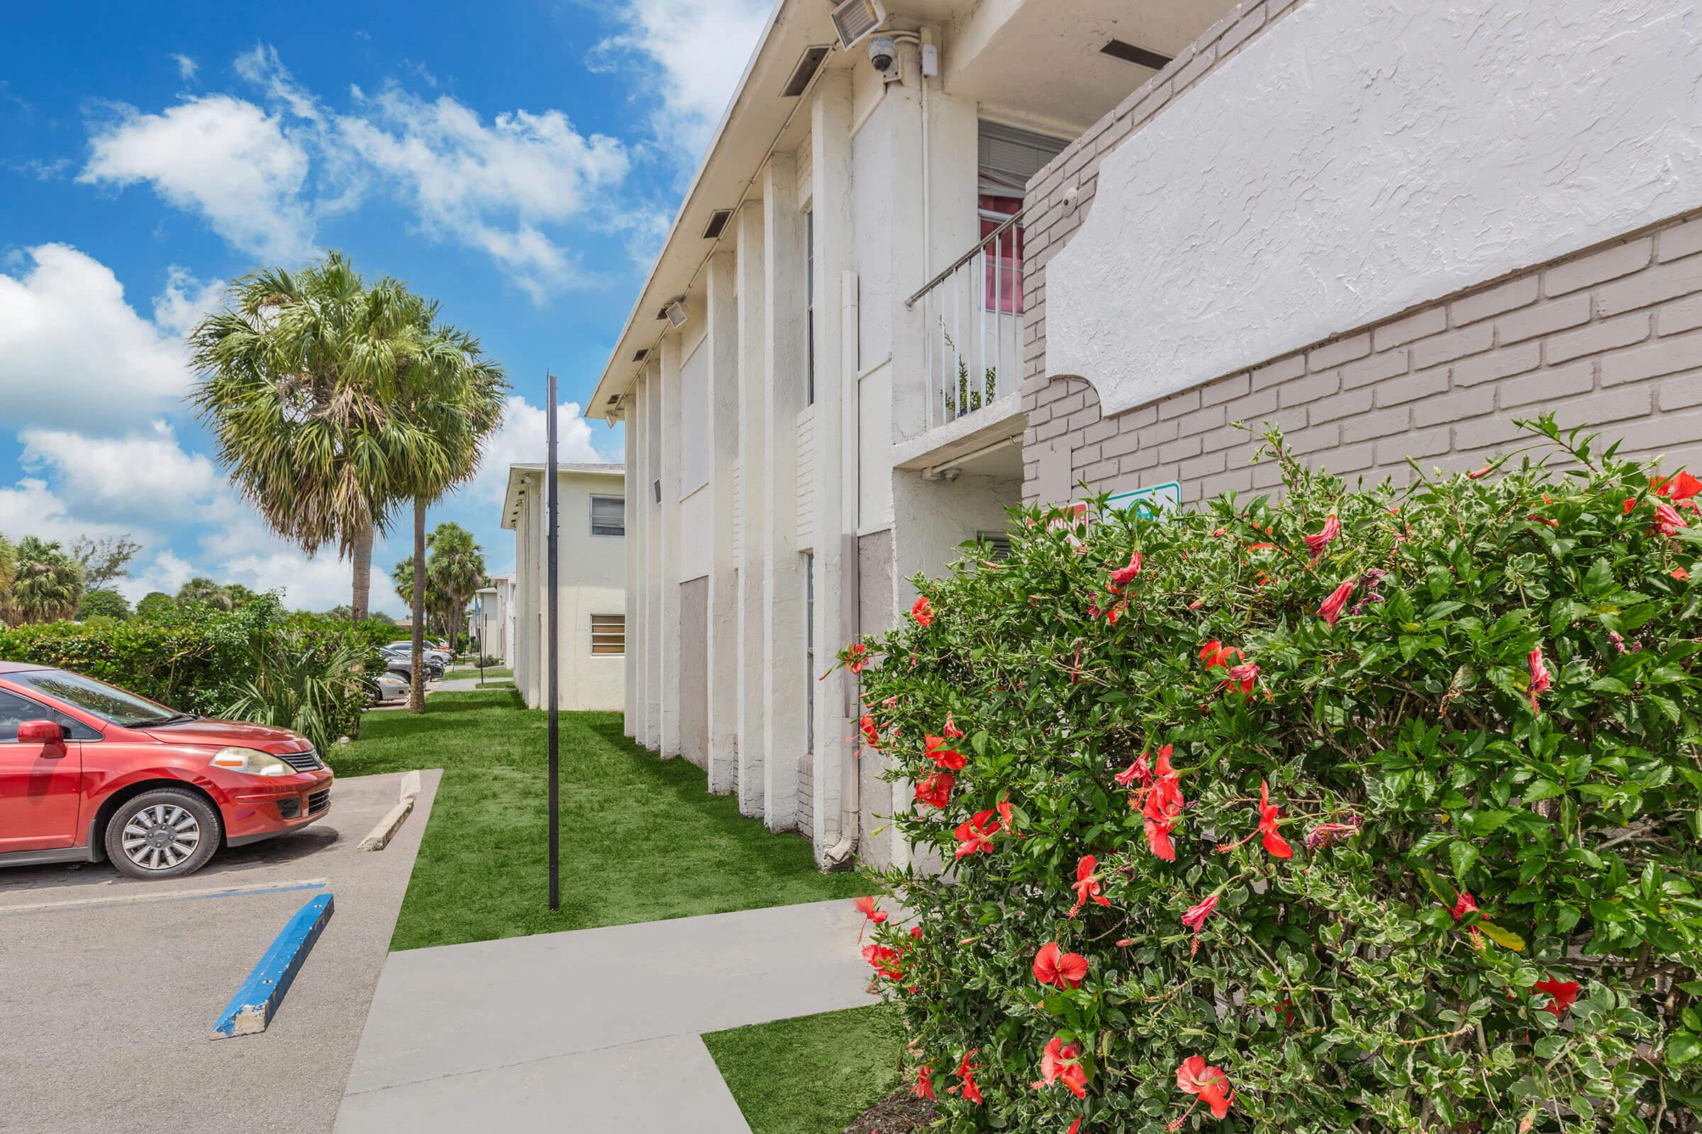
[[[620,332],[628,731],[824,865],[909,806],[834,653],[1021,502],[1025,187],[1227,7],[781,0]]]

